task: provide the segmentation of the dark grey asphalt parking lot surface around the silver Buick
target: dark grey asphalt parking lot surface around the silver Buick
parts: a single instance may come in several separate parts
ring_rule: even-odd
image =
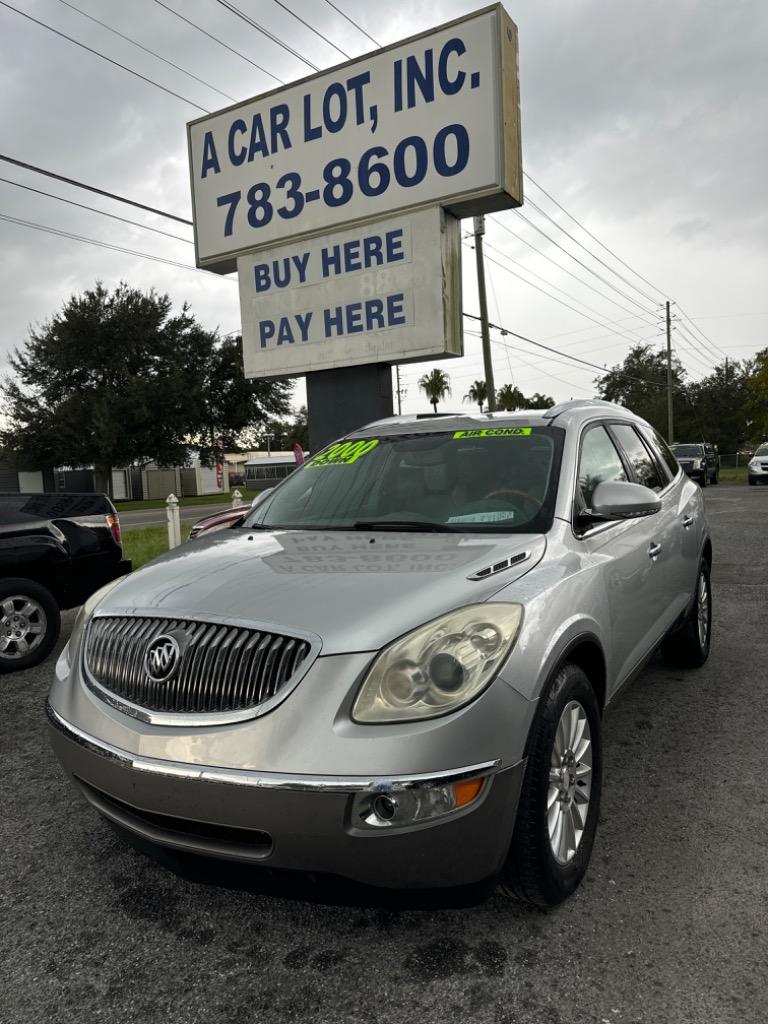
[[[762,1024],[768,488],[705,498],[712,655],[691,673],[654,659],[607,713],[592,866],[548,913],[499,894],[180,876],[65,778],[43,713],[52,659],[3,678],[0,1020]]]

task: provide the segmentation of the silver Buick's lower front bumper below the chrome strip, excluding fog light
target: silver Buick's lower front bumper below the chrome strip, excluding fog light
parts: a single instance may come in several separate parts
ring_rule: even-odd
[[[53,749],[88,802],[160,846],[282,869],[339,874],[390,888],[493,878],[512,837],[525,762],[404,776],[289,775],[208,768],[128,753],[47,706]],[[391,830],[351,817],[360,792],[484,778],[480,795],[444,817]]]

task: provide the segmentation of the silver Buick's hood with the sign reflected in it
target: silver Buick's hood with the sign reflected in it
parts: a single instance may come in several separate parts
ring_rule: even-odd
[[[97,610],[312,633],[324,654],[378,650],[452,608],[487,600],[532,568],[546,546],[539,535],[217,532],[126,577]]]

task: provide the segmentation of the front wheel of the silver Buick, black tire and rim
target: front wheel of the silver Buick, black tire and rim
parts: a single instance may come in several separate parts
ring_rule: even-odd
[[[502,888],[555,906],[585,876],[600,810],[602,740],[595,691],[564,665],[543,697],[528,743],[517,819]]]

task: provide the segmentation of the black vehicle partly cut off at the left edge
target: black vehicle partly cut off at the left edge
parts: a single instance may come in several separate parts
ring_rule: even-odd
[[[105,495],[0,494],[0,673],[42,662],[59,611],[130,571]]]

